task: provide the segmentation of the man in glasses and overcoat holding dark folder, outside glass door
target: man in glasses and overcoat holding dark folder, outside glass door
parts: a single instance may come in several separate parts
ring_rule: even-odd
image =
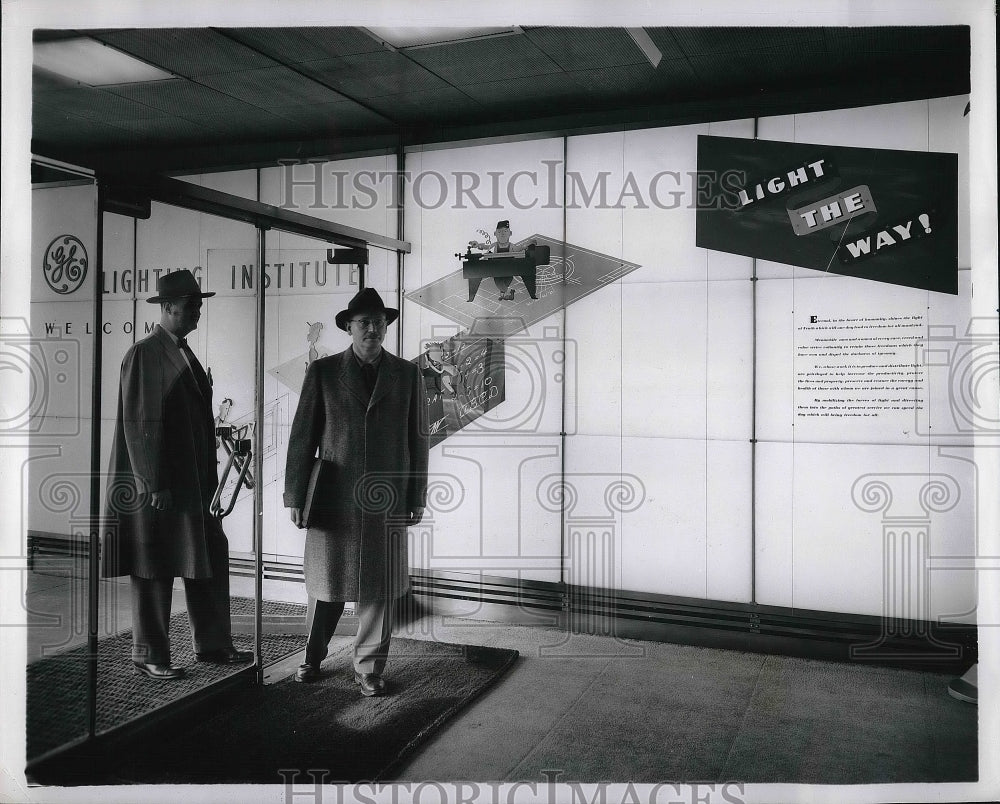
[[[393,607],[409,589],[406,527],[420,522],[427,497],[420,369],[382,348],[398,314],[373,288],[337,313],[351,345],[310,363],[285,468],[285,507],[308,527],[308,639],[296,680],[319,678],[344,603],[355,601],[354,679],[366,696],[385,692]]]

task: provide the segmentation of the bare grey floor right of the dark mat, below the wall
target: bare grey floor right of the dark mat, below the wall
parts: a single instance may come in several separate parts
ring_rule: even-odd
[[[948,695],[951,675],[441,618],[417,625],[425,638],[521,658],[399,779],[977,778],[977,710]]]

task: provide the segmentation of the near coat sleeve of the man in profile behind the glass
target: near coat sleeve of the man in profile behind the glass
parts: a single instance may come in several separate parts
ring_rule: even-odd
[[[163,491],[163,365],[147,348],[122,360],[121,416],[125,446],[140,491]]]

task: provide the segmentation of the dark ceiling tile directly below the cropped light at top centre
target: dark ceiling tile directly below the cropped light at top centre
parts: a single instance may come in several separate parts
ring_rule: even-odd
[[[560,71],[559,65],[524,34],[413,48],[406,54],[455,86]]]

